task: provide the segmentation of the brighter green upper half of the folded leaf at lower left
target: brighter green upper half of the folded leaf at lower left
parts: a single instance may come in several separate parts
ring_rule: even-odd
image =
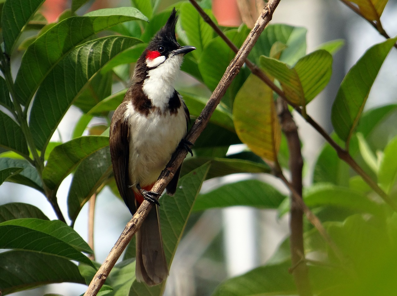
[[[37,218],[13,219],[0,223],[0,227],[4,225],[15,225],[26,227],[31,230],[46,233],[54,238],[58,238],[62,242],[69,244],[78,251],[93,254],[93,250],[81,238],[81,236],[71,227],[59,220],[45,221]]]

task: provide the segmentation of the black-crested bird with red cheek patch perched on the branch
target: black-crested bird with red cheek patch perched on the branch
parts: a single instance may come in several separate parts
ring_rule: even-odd
[[[176,10],[148,42],[135,65],[132,83],[123,102],[114,111],[109,129],[109,148],[114,179],[133,215],[143,200],[154,206],[136,233],[137,281],[148,286],[168,276],[156,192],[150,191],[173,152],[185,139],[189,110],[175,90],[183,56],[196,48],[180,46],[175,37]],[[169,195],[177,188],[181,166],[166,187]]]

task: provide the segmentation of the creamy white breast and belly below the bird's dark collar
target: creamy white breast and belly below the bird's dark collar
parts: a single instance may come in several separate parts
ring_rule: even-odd
[[[126,118],[130,125],[129,177],[133,185],[150,185],[186,135],[185,112],[181,106],[176,114],[154,111],[146,117],[129,103]]]

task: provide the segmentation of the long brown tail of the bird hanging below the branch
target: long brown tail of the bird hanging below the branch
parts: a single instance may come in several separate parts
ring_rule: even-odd
[[[153,185],[145,186],[145,190]],[[137,203],[141,203],[142,196],[134,192]],[[138,204],[137,204],[138,207]],[[164,254],[163,240],[160,232],[158,206],[154,205],[136,233],[137,258],[135,276],[137,281],[145,282],[148,286],[160,284],[168,276],[168,265]]]

